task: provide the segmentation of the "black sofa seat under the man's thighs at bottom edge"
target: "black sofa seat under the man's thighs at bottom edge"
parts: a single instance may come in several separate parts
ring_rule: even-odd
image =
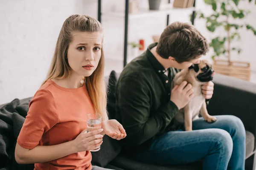
[[[160,166],[153,164],[146,164],[135,161],[123,155],[117,156],[110,164],[120,167],[124,170],[200,170],[202,169],[202,162],[187,164],[183,166]]]

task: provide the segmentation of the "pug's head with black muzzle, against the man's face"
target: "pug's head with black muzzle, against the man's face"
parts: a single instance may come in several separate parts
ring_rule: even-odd
[[[193,74],[199,82],[209,82],[213,79],[214,70],[212,65],[205,59],[202,59],[199,64],[191,65],[189,69],[193,70]]]

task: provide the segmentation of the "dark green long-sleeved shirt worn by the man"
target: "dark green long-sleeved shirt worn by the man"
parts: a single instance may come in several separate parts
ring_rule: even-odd
[[[150,49],[125,66],[116,85],[116,119],[127,136],[123,146],[130,153],[147,149],[155,136],[164,133],[178,108],[170,101],[171,82],[178,70],[165,68]]]

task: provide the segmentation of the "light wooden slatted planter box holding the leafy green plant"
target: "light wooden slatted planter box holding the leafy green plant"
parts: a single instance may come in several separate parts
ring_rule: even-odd
[[[249,62],[213,60],[213,69],[216,73],[250,81],[251,68]]]

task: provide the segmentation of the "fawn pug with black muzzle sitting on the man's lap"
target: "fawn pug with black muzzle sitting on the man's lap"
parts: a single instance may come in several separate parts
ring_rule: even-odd
[[[193,64],[188,69],[183,69],[177,73],[172,81],[172,88],[187,81],[192,85],[195,97],[176,114],[172,127],[178,127],[182,124],[186,131],[192,130],[192,121],[199,118],[199,113],[207,122],[215,122],[217,119],[210,116],[207,112],[206,100],[202,94],[201,86],[212,81],[214,70],[207,60],[201,60],[199,64]]]

